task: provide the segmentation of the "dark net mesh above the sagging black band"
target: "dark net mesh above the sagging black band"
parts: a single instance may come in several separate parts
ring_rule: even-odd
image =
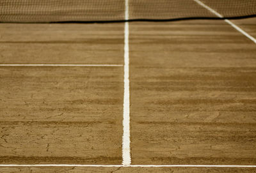
[[[198,0],[127,0],[129,20],[218,18]],[[200,0],[224,18],[256,15],[256,0]],[[125,20],[125,0],[1,0],[1,22]]]

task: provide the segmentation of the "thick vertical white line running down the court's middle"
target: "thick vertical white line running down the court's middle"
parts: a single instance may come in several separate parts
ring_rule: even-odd
[[[129,19],[129,4],[125,0],[125,20]],[[129,91],[129,23],[124,26],[124,114],[123,114],[122,153],[124,166],[131,165],[130,149],[130,91]]]

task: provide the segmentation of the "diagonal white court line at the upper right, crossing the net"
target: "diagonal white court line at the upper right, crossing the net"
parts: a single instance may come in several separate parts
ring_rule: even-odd
[[[211,7],[205,5],[204,3],[202,3],[199,0],[194,0],[196,3],[200,4],[201,6],[203,6],[204,8],[206,8],[207,10],[211,11],[212,13],[214,13],[214,15],[223,18],[223,15],[221,15],[220,13],[218,13],[217,11],[213,10]],[[252,40],[255,44],[256,44],[256,39],[253,38],[252,36],[250,36],[250,34],[246,33],[245,31],[243,31],[243,29],[241,29],[240,27],[236,26],[236,24],[234,24],[233,22],[231,22],[228,19],[225,19],[225,22],[227,22],[228,24],[230,24],[230,26],[234,27],[237,31],[239,31],[240,33],[244,34],[244,36],[246,36],[247,38],[249,38],[250,40]]]

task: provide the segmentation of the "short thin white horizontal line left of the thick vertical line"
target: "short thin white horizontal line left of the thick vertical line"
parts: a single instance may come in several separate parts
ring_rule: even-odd
[[[124,66],[122,64],[0,64],[0,66]]]

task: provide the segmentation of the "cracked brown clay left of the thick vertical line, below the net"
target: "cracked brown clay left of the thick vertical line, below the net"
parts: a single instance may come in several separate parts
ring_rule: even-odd
[[[123,64],[123,24],[65,26],[1,24],[1,63]],[[122,66],[0,70],[1,163],[122,163]]]

